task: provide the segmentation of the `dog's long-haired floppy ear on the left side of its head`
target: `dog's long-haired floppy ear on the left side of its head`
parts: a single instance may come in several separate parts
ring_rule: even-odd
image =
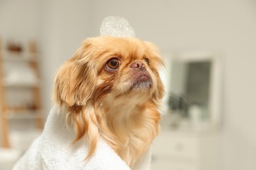
[[[96,68],[90,61],[93,51],[89,41],[77,49],[66,61],[54,78],[53,102],[69,107],[86,105],[96,86]]]

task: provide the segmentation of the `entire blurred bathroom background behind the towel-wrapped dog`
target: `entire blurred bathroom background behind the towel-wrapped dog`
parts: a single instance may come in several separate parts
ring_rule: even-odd
[[[110,15],[167,63],[152,169],[256,169],[254,0],[0,0],[0,169],[41,133],[60,63]]]

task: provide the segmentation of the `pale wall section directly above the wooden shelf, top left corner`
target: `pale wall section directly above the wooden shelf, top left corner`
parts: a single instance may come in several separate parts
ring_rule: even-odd
[[[0,1],[0,35],[7,38],[37,38],[39,0]]]

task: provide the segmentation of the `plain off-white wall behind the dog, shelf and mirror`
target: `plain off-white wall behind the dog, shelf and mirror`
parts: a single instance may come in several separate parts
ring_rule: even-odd
[[[155,42],[162,52],[205,49],[223,54],[223,170],[255,169],[255,1],[1,1],[0,34],[38,37],[41,43],[46,110],[54,71],[82,39],[98,35],[108,15],[127,18],[137,37]]]

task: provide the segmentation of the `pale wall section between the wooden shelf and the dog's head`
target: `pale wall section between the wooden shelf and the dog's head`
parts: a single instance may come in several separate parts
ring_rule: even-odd
[[[45,113],[51,109],[54,73],[73,56],[83,39],[90,37],[90,1],[40,1],[40,39],[42,48],[43,101]]]

